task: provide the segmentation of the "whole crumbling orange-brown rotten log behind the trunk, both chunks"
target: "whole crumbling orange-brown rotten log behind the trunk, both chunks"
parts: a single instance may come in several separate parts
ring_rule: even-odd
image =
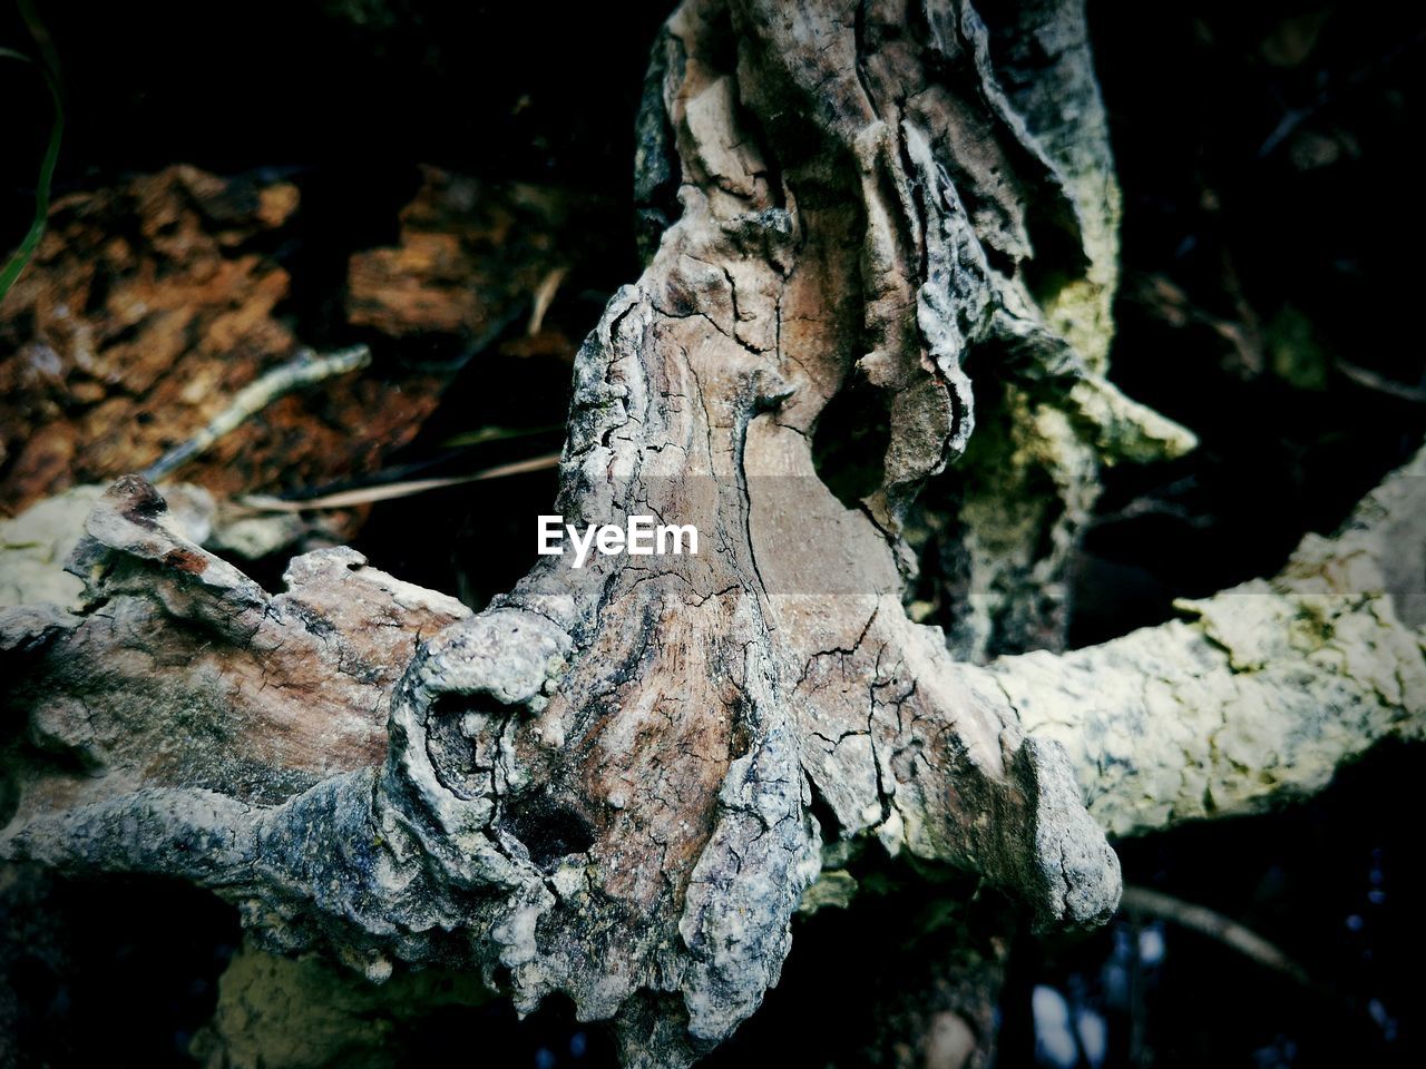
[[[268,405],[178,477],[231,497],[369,475],[462,363],[529,315],[552,271],[589,258],[576,225],[588,208],[570,195],[421,177],[399,247],[349,257],[344,322],[321,326],[371,341],[374,371]],[[317,201],[193,167],[57,200],[0,304],[0,515],[144,470],[289,365],[319,325],[294,311],[301,286],[284,264],[294,247],[298,264],[332,255],[307,248]],[[573,349],[549,328],[522,342],[558,368]],[[352,517],[335,519],[351,537]]]

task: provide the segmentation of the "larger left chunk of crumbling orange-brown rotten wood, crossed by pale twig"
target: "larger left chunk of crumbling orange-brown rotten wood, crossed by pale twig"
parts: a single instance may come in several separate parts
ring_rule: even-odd
[[[288,182],[193,167],[56,201],[0,305],[0,512],[141,470],[301,348],[265,245],[294,239],[298,201]],[[396,378],[288,398],[183,475],[227,496],[371,470],[443,385]]]

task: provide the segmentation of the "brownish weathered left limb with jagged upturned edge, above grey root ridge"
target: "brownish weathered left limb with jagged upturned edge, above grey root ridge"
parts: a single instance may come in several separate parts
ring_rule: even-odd
[[[158,787],[271,805],[375,765],[416,644],[469,616],[349,549],[295,557],[271,596],[190,540],[138,477],[86,527],[70,559],[84,604],[0,614],[0,644],[23,666],[6,694],[29,724],[7,761],[29,771],[21,822]]]

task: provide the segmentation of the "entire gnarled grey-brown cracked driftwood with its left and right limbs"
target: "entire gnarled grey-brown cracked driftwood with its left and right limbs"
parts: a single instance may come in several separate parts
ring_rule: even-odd
[[[345,550],[271,596],[124,479],[84,607],[0,616],[6,854],[198,882],[372,979],[563,992],[627,1063],[680,1065],[776,983],[848,841],[1094,925],[1105,830],[1420,731],[1422,459],[1273,583],[983,664],[1062,643],[1099,463],[1192,445],[1105,378],[1118,194],[1075,3],[690,0],[639,131],[649,264],[576,359],[558,510],[700,552],[542,557],[476,616]],[[814,463],[833,398],[886,428],[854,507]],[[953,462],[948,646],[903,610],[901,523]]]

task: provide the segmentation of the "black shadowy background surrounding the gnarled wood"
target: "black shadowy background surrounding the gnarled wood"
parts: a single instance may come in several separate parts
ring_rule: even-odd
[[[391,239],[418,162],[593,194],[607,204],[592,222],[607,255],[569,286],[576,304],[565,309],[588,328],[637,271],[632,127],[666,13],[662,3],[46,3],[67,94],[56,194],[177,161],[289,177],[302,188],[304,237],[282,254],[297,281],[287,311],[302,336],[334,344],[341,328],[324,292],[352,251]],[[1089,13],[1125,194],[1115,379],[1202,448],[1108,475],[1077,584],[1077,643],[1164,620],[1174,597],[1272,573],[1426,432],[1416,326],[1426,17],[1406,4],[1278,0],[1091,0]],[[0,46],[34,50],[10,3]],[[33,205],[48,97],[10,61],[0,94],[0,245],[10,245]],[[565,382],[518,386],[519,419],[562,420]],[[411,455],[459,422],[508,423],[493,410],[505,395],[488,379],[458,382]],[[481,556],[503,563],[462,574],[471,517],[533,515],[550,493],[549,477],[530,476],[404,502],[399,520],[378,507],[359,547],[415,582],[495,592],[523,573],[528,537],[488,530]],[[401,536],[412,520],[446,542],[424,542],[416,557]],[[1119,844],[1129,882],[1248,924],[1298,959],[1310,986],[1152,921],[1149,944],[1164,946],[1152,962],[1129,919],[1078,944],[1027,939],[1000,1063],[1037,1065],[1035,985],[1105,1021],[1105,1065],[1422,1063],[1426,874],[1409,794],[1420,773],[1419,750],[1393,747],[1282,814]],[[874,964],[914,952],[897,935],[924,905],[914,894],[801,924],[769,1012],[717,1063],[757,1063],[790,1022],[797,1053],[780,1055],[784,1065],[856,1063]],[[61,884],[43,909],[7,908],[0,926],[33,929],[51,948],[27,956],[11,941],[21,1063],[187,1063],[238,938],[231,911],[153,884]],[[445,1045],[493,1065],[609,1056],[560,1006],[519,1025],[508,1009],[442,1011],[392,1042],[411,1063]]]

